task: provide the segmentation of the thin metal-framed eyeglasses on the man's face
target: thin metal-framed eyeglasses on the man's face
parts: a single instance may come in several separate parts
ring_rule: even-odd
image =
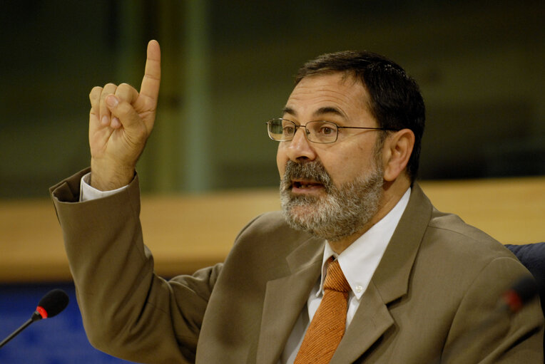
[[[289,142],[295,136],[297,128],[305,128],[309,142],[329,144],[337,141],[339,129],[392,130],[389,128],[364,128],[357,126],[339,126],[330,121],[309,121],[305,125],[297,125],[292,120],[272,119],[267,122],[269,137],[277,142]]]

